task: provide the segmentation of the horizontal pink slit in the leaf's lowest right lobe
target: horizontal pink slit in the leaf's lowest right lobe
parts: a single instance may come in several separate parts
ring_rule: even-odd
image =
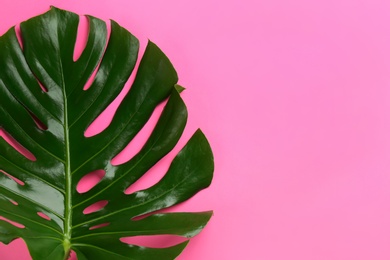
[[[187,239],[185,237],[175,235],[153,235],[120,238],[120,241],[125,244],[152,248],[171,247],[180,244],[186,240]]]

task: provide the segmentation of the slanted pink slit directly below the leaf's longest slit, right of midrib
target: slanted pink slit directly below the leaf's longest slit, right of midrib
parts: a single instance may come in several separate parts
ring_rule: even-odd
[[[131,140],[130,143],[111,160],[112,165],[116,166],[128,162],[142,149],[151,135],[153,128],[156,126],[166,102],[167,101],[164,101],[156,107],[141,131],[139,131],[133,140]]]

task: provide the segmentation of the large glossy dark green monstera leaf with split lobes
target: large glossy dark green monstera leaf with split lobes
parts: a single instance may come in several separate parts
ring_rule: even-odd
[[[73,60],[79,16],[56,8],[0,37],[0,127],[31,153],[27,158],[0,138],[0,241],[22,238],[33,259],[174,259],[187,242],[148,248],[123,237],[171,234],[192,237],[211,212],[158,213],[209,186],[210,146],[200,130],[190,138],[157,184],[125,194],[178,142],[187,120],[177,75],[168,58],[149,42],[134,83],[101,133],[88,126],[118,96],[132,73],[138,40],[111,21],[88,17],[87,45]],[[107,40],[107,38],[109,38]],[[92,85],[84,86],[97,69]],[[128,162],[111,163],[136,136],[156,106],[168,100],[143,148]],[[83,176],[104,170],[87,192]],[[84,214],[98,202],[106,205]]]

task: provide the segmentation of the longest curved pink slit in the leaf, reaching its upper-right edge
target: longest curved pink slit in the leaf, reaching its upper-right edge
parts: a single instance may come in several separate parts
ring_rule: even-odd
[[[85,130],[85,137],[92,137],[103,132],[110,124],[114,118],[115,112],[122,103],[126,94],[129,92],[131,85],[134,82],[134,79],[137,75],[138,67],[141,61],[141,58],[146,50],[147,41],[140,40],[140,48],[138,52],[138,59],[135,64],[134,70],[132,71],[129,79],[127,80],[125,86],[119,95],[114,99],[114,101],[107,106],[106,109],[87,127]]]

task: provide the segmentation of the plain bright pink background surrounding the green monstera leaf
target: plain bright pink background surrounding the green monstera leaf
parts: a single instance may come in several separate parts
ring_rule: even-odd
[[[389,1],[4,0],[0,34],[49,5],[112,18],[177,68],[179,147],[201,127],[216,163],[175,208],[215,210],[179,259],[390,259]],[[0,256],[30,259],[21,241]]]

